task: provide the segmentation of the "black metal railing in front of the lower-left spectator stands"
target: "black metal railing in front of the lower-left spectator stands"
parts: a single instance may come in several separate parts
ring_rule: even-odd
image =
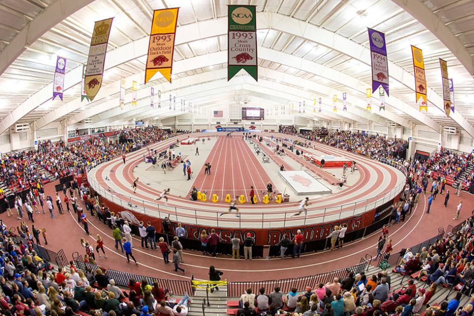
[[[97,271],[97,269],[99,268],[99,266],[97,265],[86,263],[84,261],[76,260],[75,262],[76,262],[76,267],[79,269],[82,269],[83,271],[91,269],[95,273],[95,271]],[[134,274],[134,273],[128,273],[124,271],[117,271],[117,270],[112,270],[112,269],[107,269],[106,272],[107,272],[107,276],[110,279],[114,279],[116,285],[123,286],[123,287],[128,287],[128,281],[132,277],[137,282],[141,282],[141,280],[145,279],[150,285],[152,285],[154,281],[158,281],[161,287],[165,289],[169,289],[173,291],[173,293],[176,293],[178,295],[184,295],[185,293],[189,293],[189,294],[193,293],[193,289],[191,287],[190,281],[163,279],[163,278],[144,276],[144,275],[139,275],[139,274]]]

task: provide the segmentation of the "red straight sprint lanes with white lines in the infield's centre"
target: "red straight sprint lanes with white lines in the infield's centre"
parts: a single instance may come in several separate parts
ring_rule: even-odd
[[[257,201],[262,200],[261,191],[266,192],[271,179],[245,140],[220,136],[209,152],[209,158],[211,175],[205,175],[203,167],[194,181],[194,186],[201,192],[207,191],[208,199],[217,194],[219,201],[223,201],[230,194],[232,198],[244,195],[249,200],[250,186],[253,186]],[[274,184],[273,190],[278,192]]]

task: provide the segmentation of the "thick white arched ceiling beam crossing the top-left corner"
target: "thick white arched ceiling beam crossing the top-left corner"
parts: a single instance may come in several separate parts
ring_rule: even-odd
[[[94,0],[56,0],[46,7],[2,50],[2,54],[0,54],[0,74],[3,74],[27,47],[32,45],[43,34],[92,2]]]

